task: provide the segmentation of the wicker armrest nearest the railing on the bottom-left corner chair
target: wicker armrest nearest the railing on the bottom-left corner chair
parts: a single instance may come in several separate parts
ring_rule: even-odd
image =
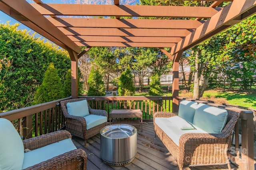
[[[24,149],[34,150],[68,138],[71,138],[70,133],[66,130],[61,130],[25,139],[23,140],[23,145]]]

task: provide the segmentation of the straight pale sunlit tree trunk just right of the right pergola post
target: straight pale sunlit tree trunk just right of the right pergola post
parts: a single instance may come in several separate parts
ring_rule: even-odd
[[[195,77],[194,77],[194,99],[199,98],[199,80],[200,80],[200,75],[199,75],[199,63],[198,63],[198,58],[200,56],[200,51],[199,49],[196,51],[196,59],[195,59]]]

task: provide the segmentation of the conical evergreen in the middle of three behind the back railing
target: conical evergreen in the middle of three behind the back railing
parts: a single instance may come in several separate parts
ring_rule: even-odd
[[[133,76],[129,68],[127,68],[124,72],[122,72],[119,78],[118,94],[119,96],[134,96],[135,94]]]

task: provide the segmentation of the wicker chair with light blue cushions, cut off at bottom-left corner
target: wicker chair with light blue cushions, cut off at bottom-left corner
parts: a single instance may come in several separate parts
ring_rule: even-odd
[[[1,170],[86,170],[87,156],[68,131],[23,140],[10,121],[0,118]]]

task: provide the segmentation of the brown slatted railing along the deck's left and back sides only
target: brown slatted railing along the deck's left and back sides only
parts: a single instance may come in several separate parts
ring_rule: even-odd
[[[143,112],[143,121],[152,121],[156,111],[171,111],[172,96],[95,96],[86,98],[93,109],[139,108]],[[14,124],[20,136],[28,139],[34,136],[50,133],[65,126],[64,116],[61,111],[60,101],[64,98],[0,113]]]

